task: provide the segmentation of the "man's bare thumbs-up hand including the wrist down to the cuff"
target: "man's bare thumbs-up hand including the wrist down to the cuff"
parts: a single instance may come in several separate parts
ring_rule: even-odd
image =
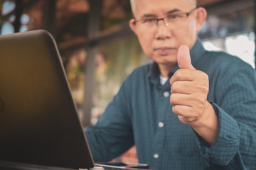
[[[178,69],[171,77],[170,103],[178,119],[193,129],[208,145],[218,137],[218,117],[207,101],[208,75],[191,64],[189,49],[181,45],[177,54]]]

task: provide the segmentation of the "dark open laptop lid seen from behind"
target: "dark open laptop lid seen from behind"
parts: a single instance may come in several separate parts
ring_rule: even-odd
[[[60,55],[45,30],[0,35],[0,162],[93,166]]]

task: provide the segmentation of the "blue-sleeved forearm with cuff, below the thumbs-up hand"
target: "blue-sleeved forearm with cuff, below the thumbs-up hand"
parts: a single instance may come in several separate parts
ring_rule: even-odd
[[[219,120],[218,137],[210,147],[197,137],[208,166],[224,169],[256,169],[256,133],[213,103]],[[252,120],[254,121],[254,120]]]

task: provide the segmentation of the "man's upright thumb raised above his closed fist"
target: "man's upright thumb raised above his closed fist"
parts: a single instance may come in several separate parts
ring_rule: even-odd
[[[191,64],[191,57],[188,46],[181,45],[181,47],[178,48],[177,62],[180,69],[195,69]]]

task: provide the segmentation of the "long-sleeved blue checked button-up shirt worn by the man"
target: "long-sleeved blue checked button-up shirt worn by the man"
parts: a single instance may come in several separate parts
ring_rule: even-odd
[[[151,169],[256,169],[255,70],[238,57],[207,52],[200,40],[191,60],[209,77],[208,101],[219,120],[213,145],[172,112],[171,85],[160,84],[159,67],[152,63],[134,69],[97,124],[87,128],[95,161],[109,161],[136,145],[139,162]]]

